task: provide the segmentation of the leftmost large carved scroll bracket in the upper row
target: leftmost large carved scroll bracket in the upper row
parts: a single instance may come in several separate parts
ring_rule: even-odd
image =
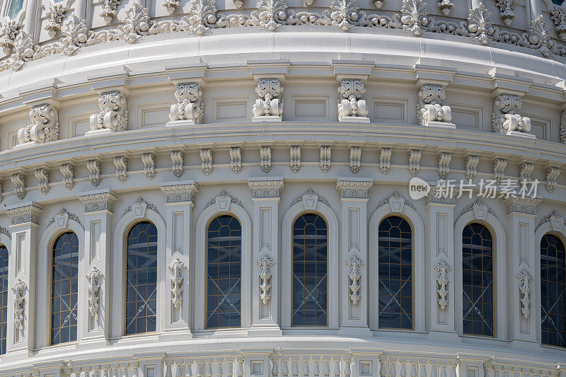
[[[59,115],[53,105],[33,106],[30,120],[31,124],[18,130],[19,144],[42,144],[59,139]]]

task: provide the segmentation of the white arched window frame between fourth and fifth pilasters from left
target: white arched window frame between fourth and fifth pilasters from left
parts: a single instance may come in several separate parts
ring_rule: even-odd
[[[285,213],[282,222],[282,274],[281,274],[281,326],[284,329],[305,327],[291,327],[291,312],[293,305],[291,302],[291,274],[292,274],[292,236],[293,224],[301,214],[313,213],[323,217],[328,226],[328,292],[337,292],[339,289],[339,270],[338,265],[340,254],[338,250],[338,218],[334,211],[323,202],[317,201],[313,208],[305,207],[305,203],[300,201]],[[328,295],[328,327],[324,329],[335,329],[338,327],[338,295]],[[313,328],[320,328],[313,327]]]

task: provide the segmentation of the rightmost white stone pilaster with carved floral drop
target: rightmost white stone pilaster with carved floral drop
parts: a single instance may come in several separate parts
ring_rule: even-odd
[[[509,340],[516,347],[525,347],[526,342],[536,344],[537,329],[540,323],[536,323],[534,311],[540,310],[533,303],[533,294],[540,294],[533,288],[535,286],[532,277],[535,274],[536,242],[535,242],[535,218],[536,206],[541,199],[531,197],[509,197],[505,199],[507,205],[507,307],[509,308],[508,328]],[[529,274],[531,281],[526,286],[531,290],[525,298],[524,291],[521,292],[523,282],[519,279],[520,274]],[[501,302],[501,301],[499,301]],[[527,311],[530,313],[528,313]],[[500,324],[504,325],[504,324]]]

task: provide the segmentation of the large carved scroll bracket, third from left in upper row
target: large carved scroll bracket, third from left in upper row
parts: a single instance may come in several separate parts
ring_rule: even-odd
[[[198,83],[180,83],[175,88],[177,103],[171,105],[169,119],[172,122],[183,120],[187,123],[202,122],[204,103],[201,102],[202,90]]]

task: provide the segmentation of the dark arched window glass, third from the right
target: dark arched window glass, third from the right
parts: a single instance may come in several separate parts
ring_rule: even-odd
[[[381,220],[378,233],[379,327],[412,329],[412,230],[400,216]]]

